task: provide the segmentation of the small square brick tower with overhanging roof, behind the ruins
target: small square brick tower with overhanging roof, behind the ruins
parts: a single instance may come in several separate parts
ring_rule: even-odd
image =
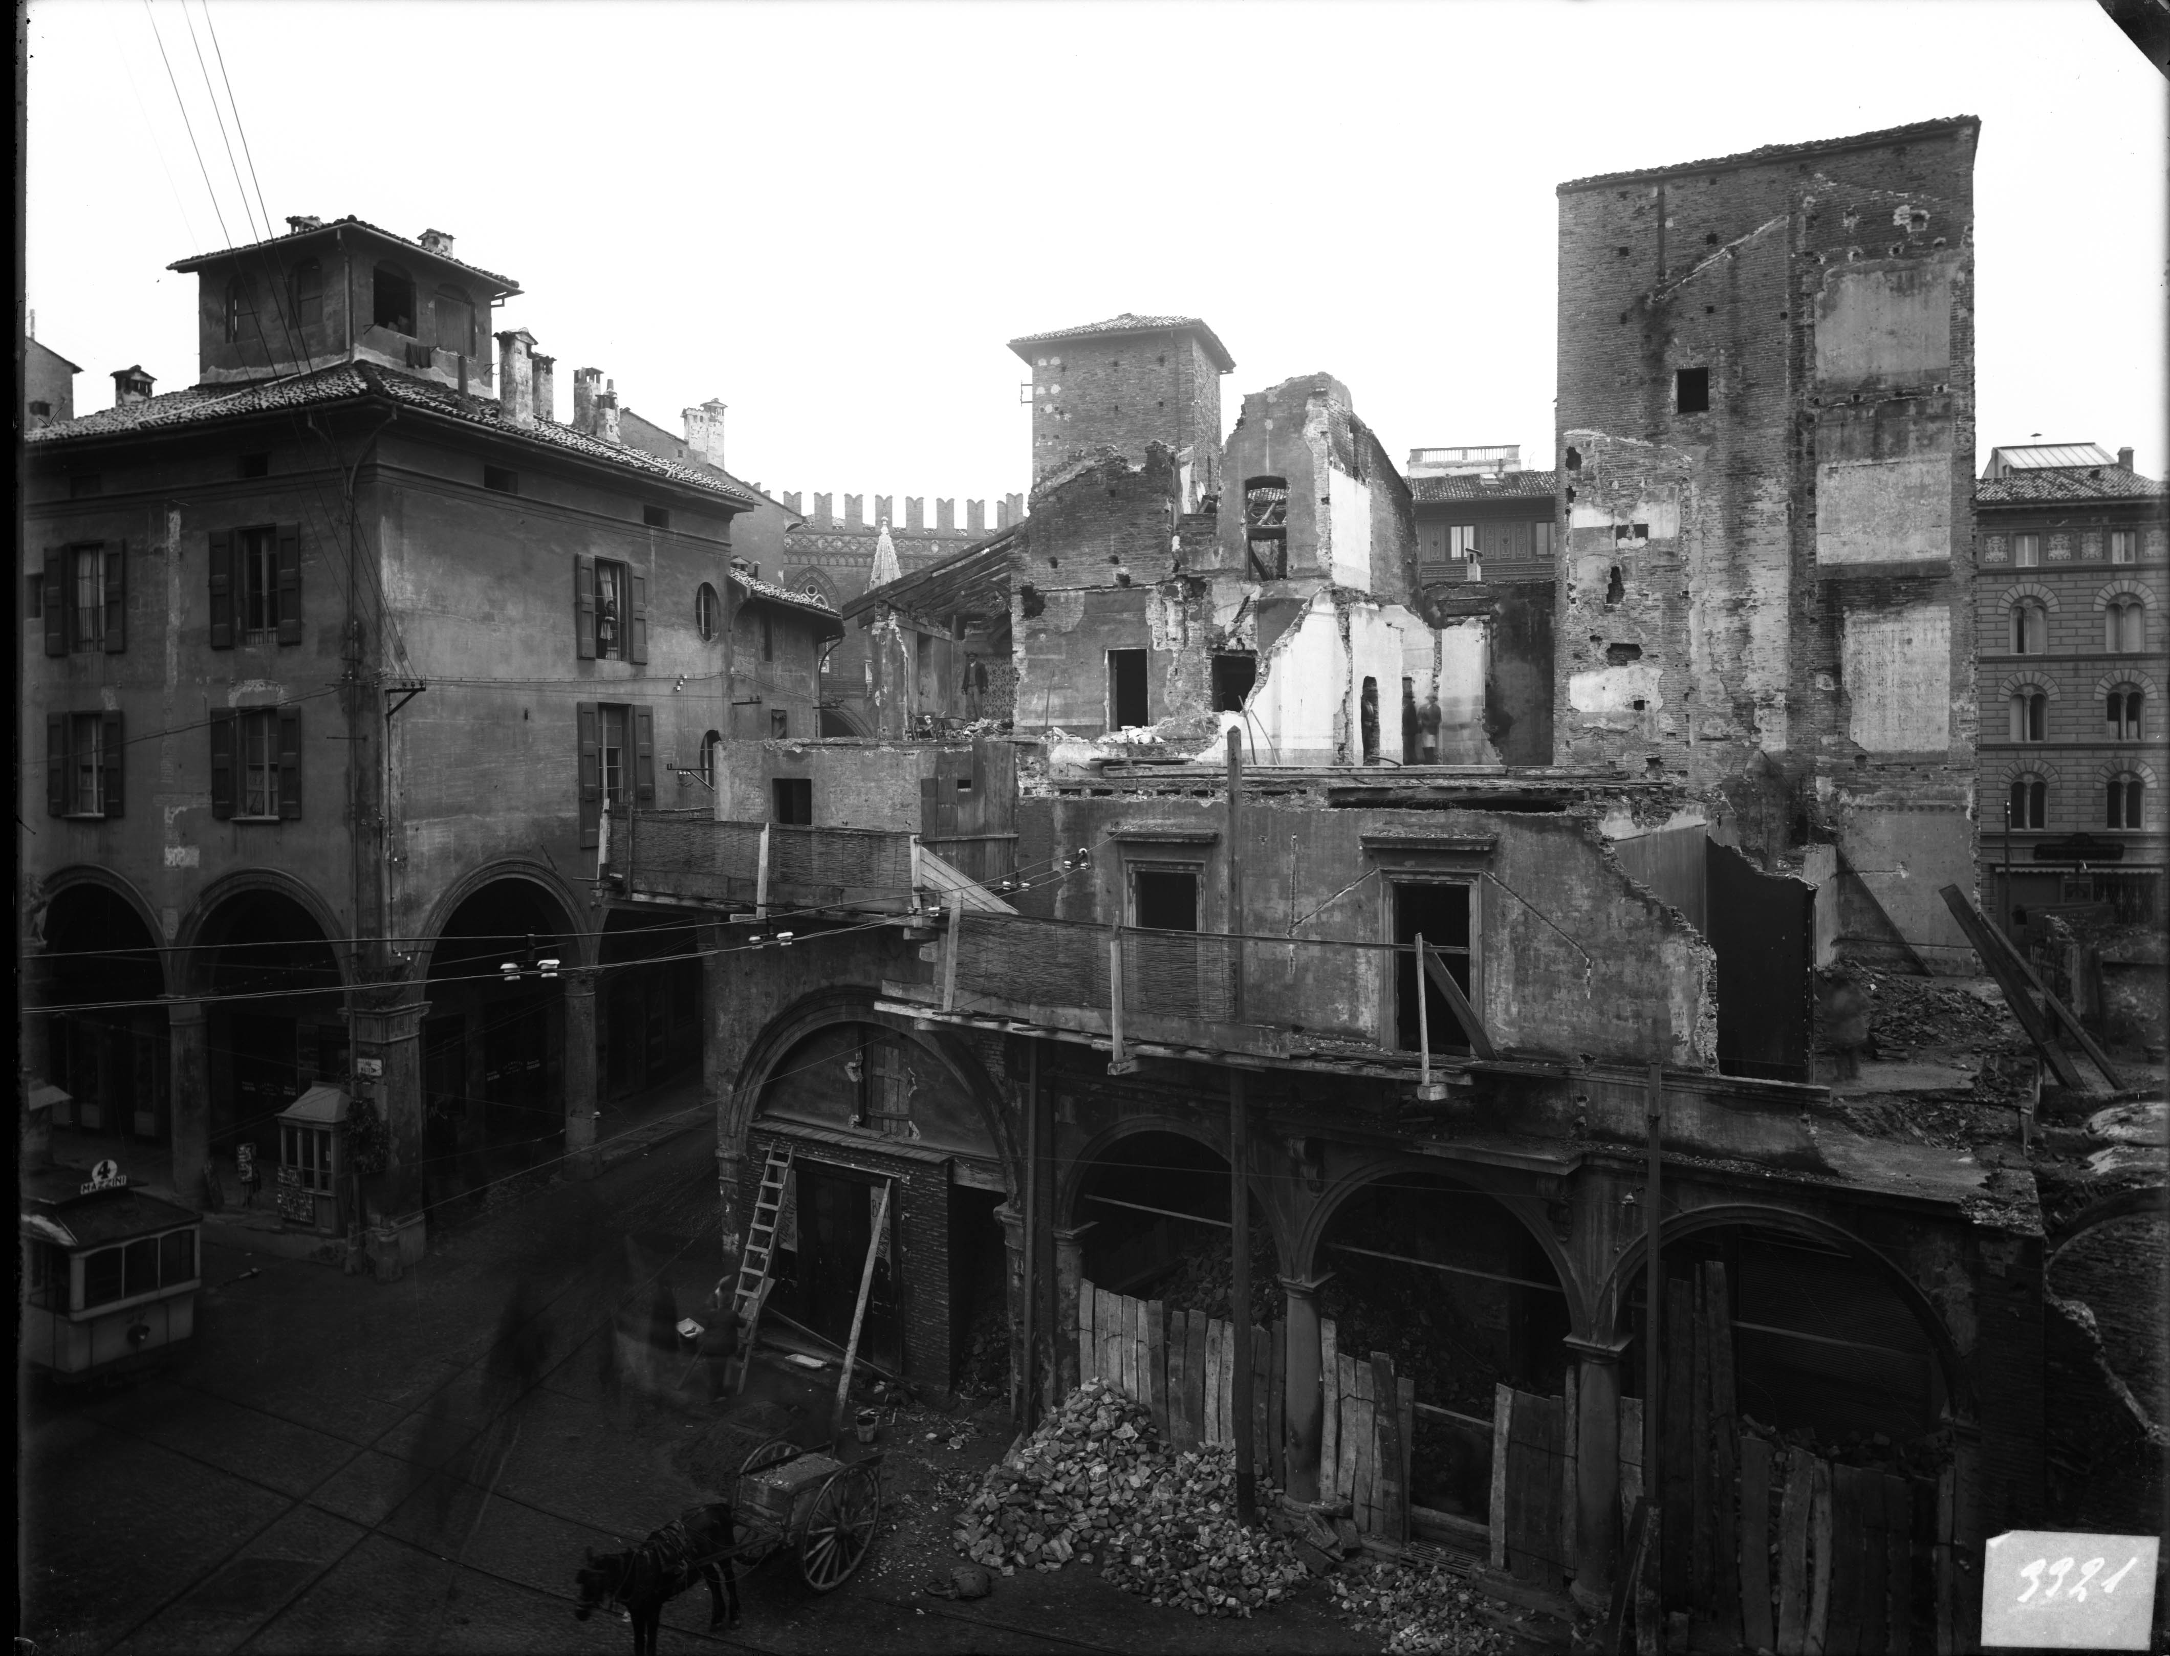
[[[1033,369],[1033,484],[1078,454],[1144,460],[1165,443],[1185,508],[1220,491],[1220,375],[1228,347],[1198,317],[1120,317],[1009,341]]]

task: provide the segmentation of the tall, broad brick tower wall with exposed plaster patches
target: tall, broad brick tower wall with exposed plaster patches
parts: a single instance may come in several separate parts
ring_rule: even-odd
[[[1940,970],[1975,864],[1975,139],[1560,184],[1554,753],[1836,859],[1844,935]]]

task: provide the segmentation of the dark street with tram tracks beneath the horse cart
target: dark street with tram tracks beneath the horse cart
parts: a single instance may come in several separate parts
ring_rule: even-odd
[[[718,1419],[697,1385],[612,1398],[603,1339],[614,1298],[655,1270],[699,1311],[714,1244],[684,1220],[712,1168],[705,1135],[684,1133],[449,1233],[388,1285],[208,1228],[200,1350],[184,1367],[24,1404],[22,1632],[52,1656],[625,1649],[616,1619],[571,1615],[582,1550],[638,1541],[723,1493],[699,1480],[697,1463],[712,1463],[694,1452]],[[621,1263],[627,1239],[647,1261],[640,1278]],[[490,1348],[523,1287],[549,1330],[542,1376],[493,1406]],[[937,1480],[955,1491],[1003,1452],[1009,1426],[994,1404],[918,1411],[892,1439],[883,1534],[851,1584],[816,1597],[790,1561],[742,1571],[738,1630],[710,1634],[694,1589],[664,1613],[664,1645],[1363,1647],[1317,1591],[1250,1623],[1194,1623],[1081,1569],[1000,1580],[972,1608],[920,1595],[955,1563],[955,1500]]]

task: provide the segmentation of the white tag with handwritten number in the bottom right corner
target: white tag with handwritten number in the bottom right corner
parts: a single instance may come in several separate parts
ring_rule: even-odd
[[[2153,1534],[2009,1530],[1981,1565],[1981,1643],[2029,1649],[2148,1649]]]

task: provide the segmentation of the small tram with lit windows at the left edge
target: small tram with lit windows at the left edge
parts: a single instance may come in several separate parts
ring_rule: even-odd
[[[22,1354],[59,1385],[119,1385],[195,1346],[202,1218],[100,1161],[37,1168],[22,1194]]]

